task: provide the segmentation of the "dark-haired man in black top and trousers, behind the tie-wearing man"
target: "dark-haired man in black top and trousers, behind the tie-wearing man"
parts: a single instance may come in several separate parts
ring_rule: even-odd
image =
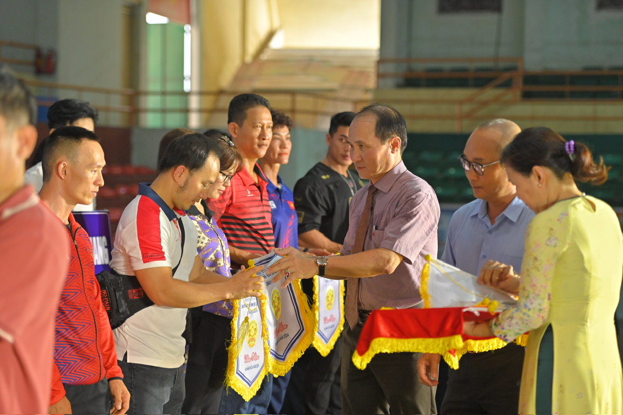
[[[331,117],[326,157],[294,187],[300,247],[322,248],[329,252],[339,252],[342,247],[348,231],[348,205],[364,186],[357,173],[348,169],[353,163],[348,130],[354,116],[354,112],[340,112]],[[313,298],[313,280],[301,280],[301,283],[303,291]],[[283,413],[341,413],[341,348],[340,337],[326,357],[313,346],[305,351],[292,369]]]

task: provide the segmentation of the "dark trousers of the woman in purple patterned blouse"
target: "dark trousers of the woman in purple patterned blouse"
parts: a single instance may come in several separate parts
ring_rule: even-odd
[[[188,348],[184,414],[216,414],[221,404],[227,370],[227,343],[231,341],[231,318],[191,310],[193,341]]]

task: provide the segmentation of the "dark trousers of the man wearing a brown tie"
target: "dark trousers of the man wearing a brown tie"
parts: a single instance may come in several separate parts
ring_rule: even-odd
[[[345,414],[436,414],[435,388],[417,380],[421,353],[379,353],[364,370],[351,357],[363,325],[342,334],[342,409]]]

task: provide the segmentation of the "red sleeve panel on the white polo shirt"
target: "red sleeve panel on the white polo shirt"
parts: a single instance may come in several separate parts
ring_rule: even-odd
[[[136,210],[136,236],[143,263],[166,259],[160,234],[160,207],[150,198],[141,196]]]

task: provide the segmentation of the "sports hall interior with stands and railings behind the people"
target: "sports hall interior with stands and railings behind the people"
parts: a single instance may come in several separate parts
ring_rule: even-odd
[[[404,160],[435,188],[441,232],[473,199],[457,156],[496,117],[589,143],[612,169],[584,190],[623,217],[622,52],[622,0],[0,0],[0,64],[36,93],[39,140],[55,100],[100,112],[113,227],[164,133],[226,130],[242,92],[293,118],[290,186],[331,115],[376,101],[407,120]]]

